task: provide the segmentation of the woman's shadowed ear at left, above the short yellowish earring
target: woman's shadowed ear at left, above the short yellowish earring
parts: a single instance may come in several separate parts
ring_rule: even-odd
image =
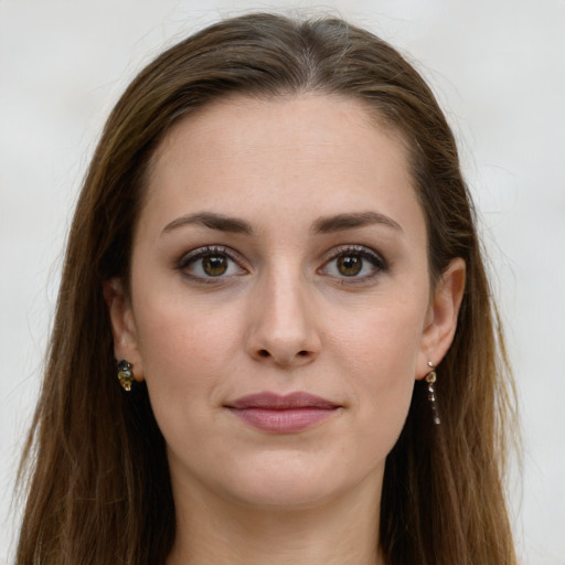
[[[131,363],[136,381],[143,381],[143,365],[138,349],[134,311],[129,297],[124,289],[124,282],[117,277],[105,280],[103,291],[110,317],[116,360],[125,359],[128,363]]]

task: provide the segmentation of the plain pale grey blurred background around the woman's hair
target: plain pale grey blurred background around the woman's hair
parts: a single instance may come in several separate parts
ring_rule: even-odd
[[[13,552],[13,479],[64,237],[104,119],[163,47],[269,9],[366,26],[437,93],[518,381],[523,467],[513,462],[509,490],[519,552],[524,564],[565,565],[565,0],[0,0],[0,563]]]

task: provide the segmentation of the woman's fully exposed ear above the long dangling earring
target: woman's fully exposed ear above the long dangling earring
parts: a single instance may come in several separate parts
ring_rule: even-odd
[[[429,373],[428,361],[439,365],[457,329],[457,317],[465,292],[465,260],[457,257],[437,281],[426,316],[422,335],[416,379],[424,379]]]

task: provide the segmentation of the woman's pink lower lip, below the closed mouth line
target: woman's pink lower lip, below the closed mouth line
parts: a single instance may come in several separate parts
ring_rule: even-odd
[[[230,408],[230,411],[245,423],[263,431],[291,434],[323,422],[333,415],[337,408]]]

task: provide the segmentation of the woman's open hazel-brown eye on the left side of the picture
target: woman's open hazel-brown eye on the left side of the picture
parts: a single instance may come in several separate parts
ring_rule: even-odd
[[[179,270],[196,280],[243,275],[246,270],[227,247],[199,247],[185,254],[179,262]]]

